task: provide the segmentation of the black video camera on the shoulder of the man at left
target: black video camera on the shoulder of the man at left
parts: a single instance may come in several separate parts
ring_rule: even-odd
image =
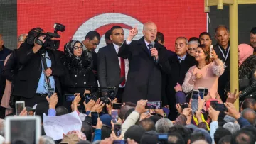
[[[41,28],[33,28],[28,32],[28,37],[26,38],[26,43],[33,45],[34,42],[38,45],[42,45],[45,48],[50,48],[53,50],[57,50],[60,46],[60,40],[53,40],[52,38],[60,38],[58,31],[65,31],[65,26],[60,23],[54,23],[54,33],[46,32],[43,33],[43,29]],[[44,43],[42,40],[38,39],[40,36],[44,36]]]

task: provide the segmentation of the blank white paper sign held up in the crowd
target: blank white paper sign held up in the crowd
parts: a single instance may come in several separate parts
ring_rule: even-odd
[[[78,113],[68,113],[62,116],[46,116],[43,114],[43,128],[47,136],[53,140],[63,139],[63,133],[67,134],[69,131],[81,131],[82,121]]]

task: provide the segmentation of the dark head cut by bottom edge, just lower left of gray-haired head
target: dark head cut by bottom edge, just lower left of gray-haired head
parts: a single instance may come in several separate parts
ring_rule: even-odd
[[[156,144],[158,143],[158,136],[156,131],[148,131],[142,135],[139,144]]]

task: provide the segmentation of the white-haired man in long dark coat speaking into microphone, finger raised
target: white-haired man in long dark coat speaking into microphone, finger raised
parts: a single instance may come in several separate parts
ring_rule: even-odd
[[[129,36],[117,55],[129,60],[122,102],[130,101],[136,104],[140,99],[161,101],[161,70],[170,71],[166,48],[156,40],[155,23],[144,23],[144,36],[139,40],[132,40],[137,33],[135,26],[129,31]],[[153,43],[154,45],[151,45]]]

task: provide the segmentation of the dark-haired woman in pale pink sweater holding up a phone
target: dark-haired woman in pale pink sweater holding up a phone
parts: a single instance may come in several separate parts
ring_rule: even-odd
[[[196,48],[195,59],[198,64],[186,73],[182,84],[183,92],[188,93],[198,87],[204,87],[215,97],[215,93],[218,92],[218,77],[224,72],[224,63],[208,45],[199,45]]]

